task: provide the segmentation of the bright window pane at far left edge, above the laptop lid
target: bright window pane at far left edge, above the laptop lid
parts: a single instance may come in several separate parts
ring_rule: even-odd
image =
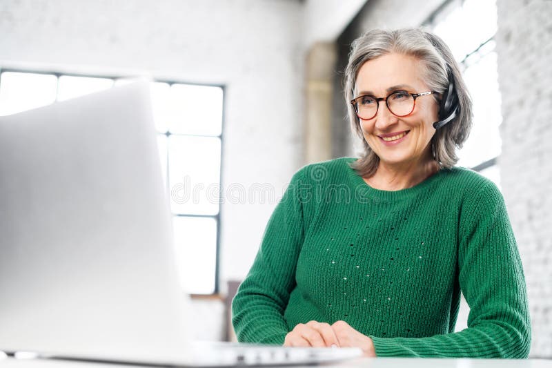
[[[3,72],[0,75],[0,115],[52,104],[56,99],[56,89],[55,75]]]

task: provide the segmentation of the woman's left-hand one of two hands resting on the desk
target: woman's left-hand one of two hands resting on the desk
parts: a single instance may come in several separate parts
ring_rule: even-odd
[[[339,347],[339,341],[332,328],[324,322],[299,323],[286,335],[284,347]]]

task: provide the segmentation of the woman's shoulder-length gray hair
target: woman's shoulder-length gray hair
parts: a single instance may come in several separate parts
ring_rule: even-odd
[[[368,146],[362,135],[359,119],[349,101],[354,90],[360,67],[368,60],[391,52],[416,57],[425,68],[424,80],[431,90],[442,94],[449,87],[449,70],[454,80],[459,109],[456,117],[440,129],[431,139],[433,156],[441,167],[450,168],[458,162],[456,148],[466,141],[472,125],[471,98],[462,79],[462,73],[449,46],[440,37],[422,29],[368,30],[351,45],[349,61],[345,70],[344,95],[348,119],[353,133],[359,135],[364,146],[364,155],[353,163],[353,168],[363,177],[372,176],[377,170],[380,157]]]

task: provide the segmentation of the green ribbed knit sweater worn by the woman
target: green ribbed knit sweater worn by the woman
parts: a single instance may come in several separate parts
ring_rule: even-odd
[[[282,345],[298,323],[344,320],[377,356],[526,358],[524,274],[493,182],[452,168],[381,191],[354,160],[293,175],[233,300],[238,340]],[[454,333],[461,291],[468,328]]]

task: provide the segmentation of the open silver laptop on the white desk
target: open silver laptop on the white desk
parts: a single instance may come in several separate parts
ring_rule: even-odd
[[[0,234],[0,351],[175,367],[362,355],[193,341],[147,82],[0,117]]]

